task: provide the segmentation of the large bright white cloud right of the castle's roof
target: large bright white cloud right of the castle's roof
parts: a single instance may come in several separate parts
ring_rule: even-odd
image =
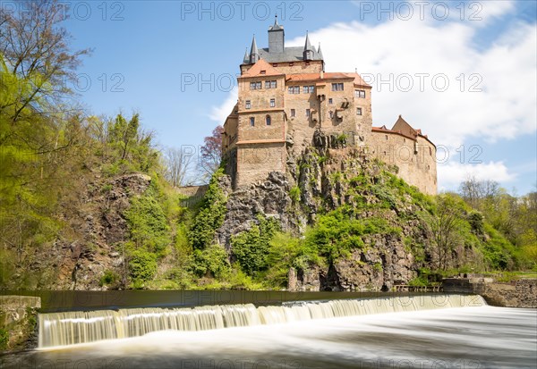
[[[499,16],[509,6],[488,7],[487,12]],[[391,126],[403,114],[448,147],[467,138],[494,141],[533,132],[535,24],[516,24],[488,49],[478,50],[478,23],[396,19],[370,26],[353,21],[310,32],[310,39],[321,42],[327,71],[356,68],[371,80],[375,125]],[[301,46],[303,37],[286,44]],[[426,73],[422,91],[420,73]],[[408,77],[413,88],[405,92]],[[445,79],[449,86],[442,92]]]

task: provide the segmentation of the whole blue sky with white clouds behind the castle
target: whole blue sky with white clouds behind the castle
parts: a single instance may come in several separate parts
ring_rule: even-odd
[[[287,46],[308,30],[327,71],[371,81],[374,125],[403,114],[449,153],[440,189],[474,174],[521,195],[537,183],[536,3],[88,1],[70,3],[65,26],[94,49],[77,87],[90,112],[138,112],[161,147],[199,147],[277,13]]]

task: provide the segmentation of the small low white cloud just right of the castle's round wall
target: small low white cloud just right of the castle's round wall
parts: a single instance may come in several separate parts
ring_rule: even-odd
[[[515,180],[516,174],[509,172],[503,162],[489,162],[487,164],[461,164],[449,162],[439,164],[439,189],[457,189],[458,185],[473,176],[476,180],[495,180],[508,182]]]

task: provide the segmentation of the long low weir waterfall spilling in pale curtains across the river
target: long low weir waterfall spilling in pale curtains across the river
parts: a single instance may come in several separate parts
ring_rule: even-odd
[[[206,331],[311,319],[485,306],[481,296],[421,295],[395,298],[299,301],[282,306],[224,305],[135,308],[39,314],[39,348],[142,336],[151,331]]]

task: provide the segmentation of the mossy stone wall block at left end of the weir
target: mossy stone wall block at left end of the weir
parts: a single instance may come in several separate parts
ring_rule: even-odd
[[[37,312],[40,307],[40,298],[0,296],[0,351],[35,346]]]

